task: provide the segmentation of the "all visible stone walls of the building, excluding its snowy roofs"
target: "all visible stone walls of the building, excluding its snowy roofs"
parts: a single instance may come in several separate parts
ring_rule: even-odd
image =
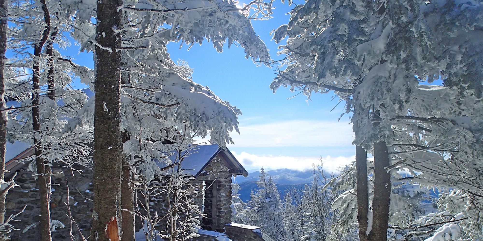
[[[75,167],[78,169],[86,169]],[[52,233],[53,240],[70,240],[69,232],[71,229],[71,221],[67,216],[67,199],[69,196],[69,204],[71,214],[77,225],[81,229],[85,237],[89,236],[91,219],[92,219],[92,170],[87,169],[82,174],[72,172],[70,168],[53,166],[52,176],[52,196],[51,196],[51,219],[59,220],[65,227],[57,227]],[[73,174],[72,174],[73,173]],[[69,195],[67,195],[67,183],[69,184]],[[40,220],[39,195],[36,180],[32,173],[27,170],[27,165],[17,171],[15,181],[20,187],[14,187],[7,195],[7,215],[15,214],[26,206],[25,211],[20,214],[17,219],[21,222],[13,222],[14,230],[11,233],[13,241],[38,241],[38,224]],[[231,174],[222,160],[215,157],[208,164],[203,173],[196,180],[192,181],[197,191],[206,188],[206,184],[214,182],[209,191],[210,194],[201,193],[194,197],[195,203],[199,205],[201,211],[209,211],[210,218],[200,218],[201,226],[206,230],[217,232],[225,232],[225,224],[231,222]],[[154,211],[159,213],[166,212],[166,203],[160,200],[166,200],[166,195],[161,190],[156,190],[157,198],[153,200],[152,207]],[[208,200],[207,200],[208,198]],[[207,208],[207,205],[209,207]],[[205,210],[203,210],[203,207]],[[205,212],[206,213],[206,212]],[[162,225],[162,224],[161,224]],[[166,223],[164,224],[166,226]],[[137,218],[136,227],[139,230],[142,225]],[[79,232],[73,224],[73,234],[78,237]],[[209,237],[201,237],[200,240],[210,240]],[[241,240],[240,240],[241,241]]]

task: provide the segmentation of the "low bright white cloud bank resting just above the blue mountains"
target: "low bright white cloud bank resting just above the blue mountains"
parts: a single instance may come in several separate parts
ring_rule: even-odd
[[[241,152],[241,154],[233,153],[241,165],[245,169],[258,169],[263,166],[267,170],[288,168],[293,170],[304,171],[312,169],[313,164],[320,165],[320,159],[318,157],[288,157],[288,156],[258,156]],[[348,165],[355,160],[355,156],[352,157],[323,157],[322,163],[324,170],[329,172],[336,172],[340,166]]]

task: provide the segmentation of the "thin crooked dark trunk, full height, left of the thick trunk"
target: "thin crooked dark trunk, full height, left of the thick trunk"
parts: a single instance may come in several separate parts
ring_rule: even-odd
[[[34,64],[32,67],[32,128],[33,128],[33,143],[35,149],[35,163],[37,166],[37,186],[39,188],[40,198],[40,236],[41,241],[51,241],[52,235],[50,233],[50,202],[49,202],[49,187],[47,185],[47,175],[45,172],[45,160],[43,159],[42,147],[42,133],[40,120],[40,66],[39,60],[42,53],[42,48],[50,34],[50,15],[47,9],[45,0],[42,3],[42,10],[44,14],[44,21],[46,23],[43,29],[42,39],[34,46]]]

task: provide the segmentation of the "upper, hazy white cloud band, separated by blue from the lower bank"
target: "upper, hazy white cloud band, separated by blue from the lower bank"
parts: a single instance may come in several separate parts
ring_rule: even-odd
[[[354,133],[347,122],[288,120],[241,125],[231,137],[236,147],[347,147]]]

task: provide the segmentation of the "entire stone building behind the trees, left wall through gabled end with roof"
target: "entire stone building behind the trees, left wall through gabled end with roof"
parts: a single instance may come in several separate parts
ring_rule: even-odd
[[[29,147],[15,153],[14,158],[6,162],[6,169],[10,171],[7,178],[17,173],[15,181],[20,186],[11,189],[7,195],[7,215],[18,213],[26,207],[18,216],[18,220],[22,221],[14,223],[18,229],[11,233],[14,241],[40,240],[37,227],[40,219],[38,188],[33,173],[28,168],[31,155],[33,150]],[[173,164],[167,166],[158,163],[159,168],[166,170],[177,167],[179,163],[174,159],[176,155],[170,157]],[[261,232],[260,227],[231,223],[231,178],[236,175],[247,176],[248,173],[227,148],[221,148],[216,144],[199,145],[183,155],[184,158],[180,162],[181,170],[184,174],[193,176],[193,186],[203,190],[201,195],[194,198],[199,210],[204,214],[199,220],[201,227],[198,229],[199,238],[196,238],[196,241],[271,241],[269,236]],[[51,196],[51,219],[57,220],[54,221],[56,225],[52,233],[54,240],[71,240],[70,230],[77,240],[81,233],[85,237],[89,236],[92,218],[92,170],[85,167],[76,168],[84,171],[73,172],[71,168],[58,164],[52,167],[54,186]],[[153,207],[162,213],[164,206],[161,204]],[[136,227],[136,231],[141,232],[139,237],[142,237],[142,224],[139,220],[136,221]]]

